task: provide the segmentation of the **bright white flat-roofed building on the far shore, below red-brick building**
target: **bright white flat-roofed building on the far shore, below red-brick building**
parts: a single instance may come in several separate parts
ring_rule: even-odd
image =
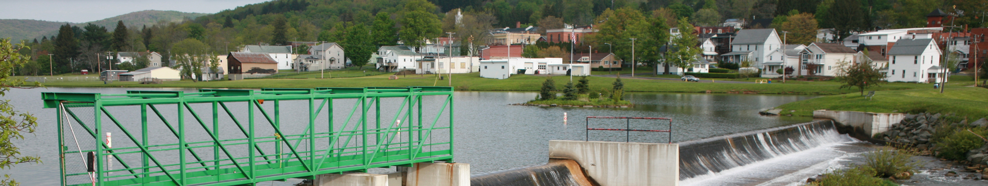
[[[505,58],[480,60],[480,77],[505,79],[525,69],[525,74],[547,73],[549,64],[562,64],[562,58]],[[589,68],[587,70],[590,70]],[[537,72],[536,72],[537,71]]]

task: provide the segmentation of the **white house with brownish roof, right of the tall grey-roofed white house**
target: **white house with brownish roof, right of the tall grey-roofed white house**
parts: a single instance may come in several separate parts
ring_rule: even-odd
[[[813,43],[800,51],[803,65],[797,66],[797,75],[837,76],[842,62],[856,62],[858,51],[840,44]],[[806,69],[806,74],[802,74]]]

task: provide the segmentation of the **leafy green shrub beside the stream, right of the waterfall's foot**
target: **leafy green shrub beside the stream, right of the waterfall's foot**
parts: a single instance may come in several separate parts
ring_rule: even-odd
[[[877,177],[891,177],[898,173],[915,172],[919,163],[912,159],[913,153],[907,150],[897,150],[891,147],[879,148],[876,151],[864,153],[862,170]],[[908,178],[896,178],[908,179]]]

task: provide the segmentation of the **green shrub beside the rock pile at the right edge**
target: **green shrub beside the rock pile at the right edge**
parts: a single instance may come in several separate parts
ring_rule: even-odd
[[[974,134],[967,132],[967,130],[960,128],[940,135],[944,137],[936,140],[939,147],[938,150],[940,151],[937,156],[950,160],[964,160],[967,159],[967,151],[981,147],[984,144],[983,139],[974,136]],[[985,134],[985,131],[981,128],[972,128],[970,130],[982,136]]]

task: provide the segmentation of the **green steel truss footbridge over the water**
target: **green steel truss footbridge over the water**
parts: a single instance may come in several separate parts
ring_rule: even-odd
[[[60,179],[68,186],[253,185],[453,162],[452,87],[45,92],[42,99],[57,109]],[[334,106],[344,109],[334,115]]]

